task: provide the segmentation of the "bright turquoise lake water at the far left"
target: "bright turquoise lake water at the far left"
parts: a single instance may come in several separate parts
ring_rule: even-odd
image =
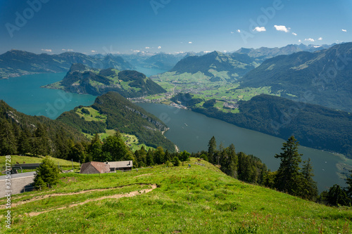
[[[65,74],[30,74],[0,79],[0,98],[26,115],[44,115],[51,119],[56,119],[61,113],[73,110],[78,105],[92,105],[96,98],[92,95],[40,88],[61,81]]]

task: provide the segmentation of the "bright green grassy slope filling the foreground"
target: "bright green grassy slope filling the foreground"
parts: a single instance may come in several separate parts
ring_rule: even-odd
[[[12,228],[3,223],[0,233],[351,233],[351,208],[326,207],[246,184],[207,162],[206,167],[194,162],[190,169],[158,166],[125,173],[62,174],[53,190],[13,196],[12,204],[27,203],[11,208]],[[158,188],[103,199],[149,184]],[[87,200],[91,202],[79,204]],[[44,211],[49,212],[29,215]],[[1,218],[4,214],[6,209],[0,209]]]

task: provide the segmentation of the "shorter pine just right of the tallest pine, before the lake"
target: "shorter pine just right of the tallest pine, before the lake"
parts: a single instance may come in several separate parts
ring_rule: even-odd
[[[318,187],[317,182],[313,181],[312,178],[314,174],[310,158],[308,158],[308,161],[304,161],[303,163],[303,180],[301,183],[300,196],[308,200],[316,200],[316,198],[318,197]]]

